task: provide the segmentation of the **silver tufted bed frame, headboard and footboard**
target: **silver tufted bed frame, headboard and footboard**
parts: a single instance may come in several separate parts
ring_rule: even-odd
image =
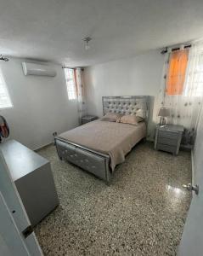
[[[131,114],[142,109],[145,116],[144,120],[148,125],[149,99],[149,96],[103,96],[103,113]],[[106,183],[110,183],[112,172],[108,154],[101,154],[79,144],[67,142],[60,137],[54,137],[54,142],[60,160],[67,160],[83,170],[93,173]]]

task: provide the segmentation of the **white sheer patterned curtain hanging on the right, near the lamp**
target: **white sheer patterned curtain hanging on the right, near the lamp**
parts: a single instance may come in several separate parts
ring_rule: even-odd
[[[195,130],[203,96],[203,42],[194,43],[189,49],[183,92],[180,95],[168,95],[166,92],[171,55],[170,52],[166,54],[159,105],[170,109],[168,123],[184,126],[182,143],[191,146],[195,143]],[[181,65],[181,57],[179,61]]]

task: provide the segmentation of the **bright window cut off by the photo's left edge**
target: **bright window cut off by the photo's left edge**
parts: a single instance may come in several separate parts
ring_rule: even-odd
[[[8,94],[8,89],[3,79],[3,74],[0,71],[0,108],[12,108],[12,107],[13,107],[13,104]]]

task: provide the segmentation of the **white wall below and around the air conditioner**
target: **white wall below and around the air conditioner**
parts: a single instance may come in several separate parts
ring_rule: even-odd
[[[0,68],[14,108],[0,109],[8,121],[10,137],[36,149],[53,141],[53,132],[78,125],[76,102],[68,100],[64,70],[54,65],[54,78],[26,76],[20,59],[1,61]],[[53,64],[52,64],[53,65]]]

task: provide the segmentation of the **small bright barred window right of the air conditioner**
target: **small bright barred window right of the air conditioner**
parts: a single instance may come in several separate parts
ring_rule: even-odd
[[[76,79],[72,68],[65,68],[65,81],[69,100],[76,100]]]

